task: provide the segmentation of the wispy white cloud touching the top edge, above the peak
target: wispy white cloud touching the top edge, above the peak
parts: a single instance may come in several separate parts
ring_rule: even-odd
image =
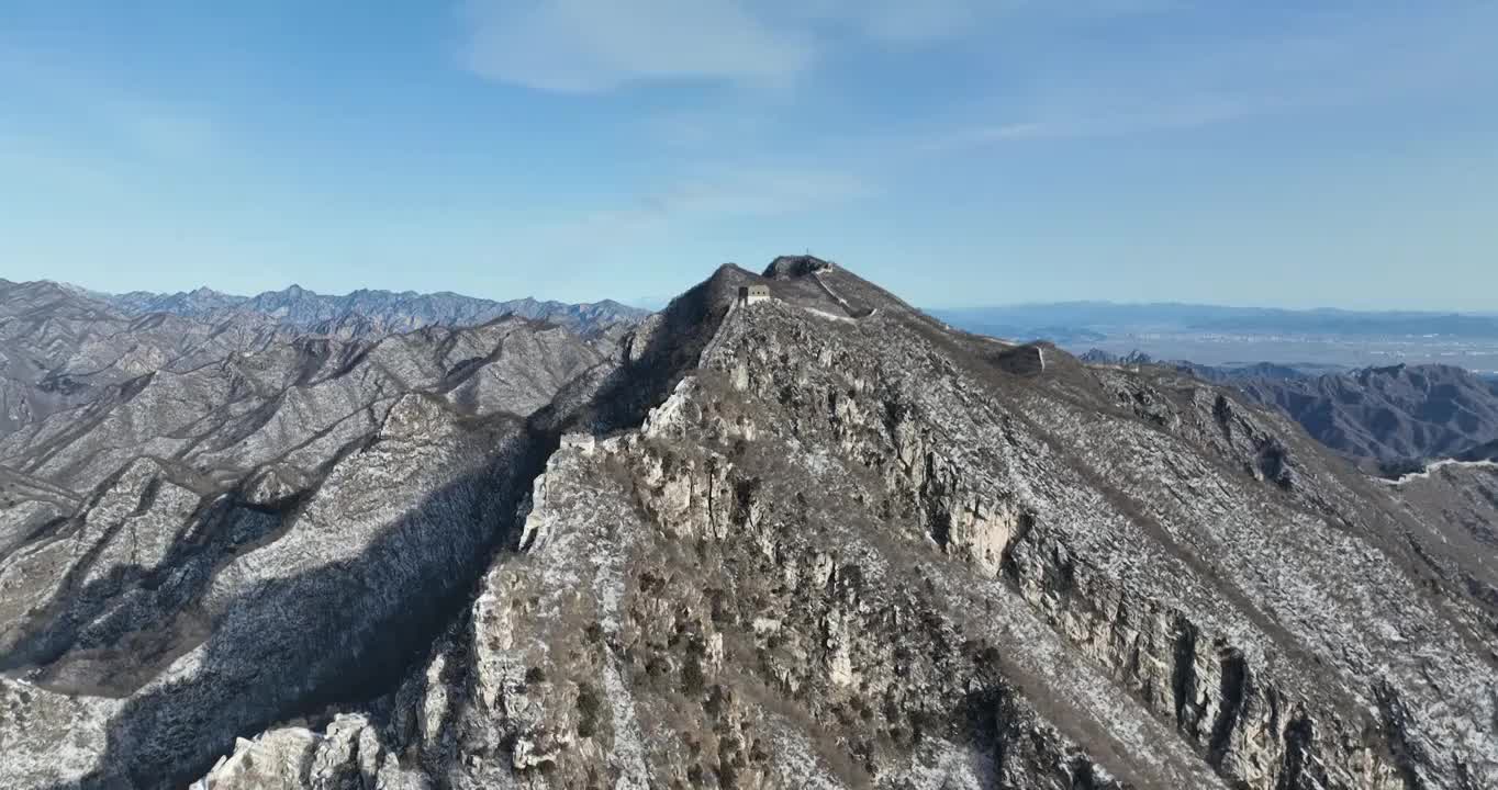
[[[500,82],[598,93],[662,81],[785,82],[831,51],[971,37],[1010,18],[1095,19],[1174,0],[466,0],[460,58]]]

